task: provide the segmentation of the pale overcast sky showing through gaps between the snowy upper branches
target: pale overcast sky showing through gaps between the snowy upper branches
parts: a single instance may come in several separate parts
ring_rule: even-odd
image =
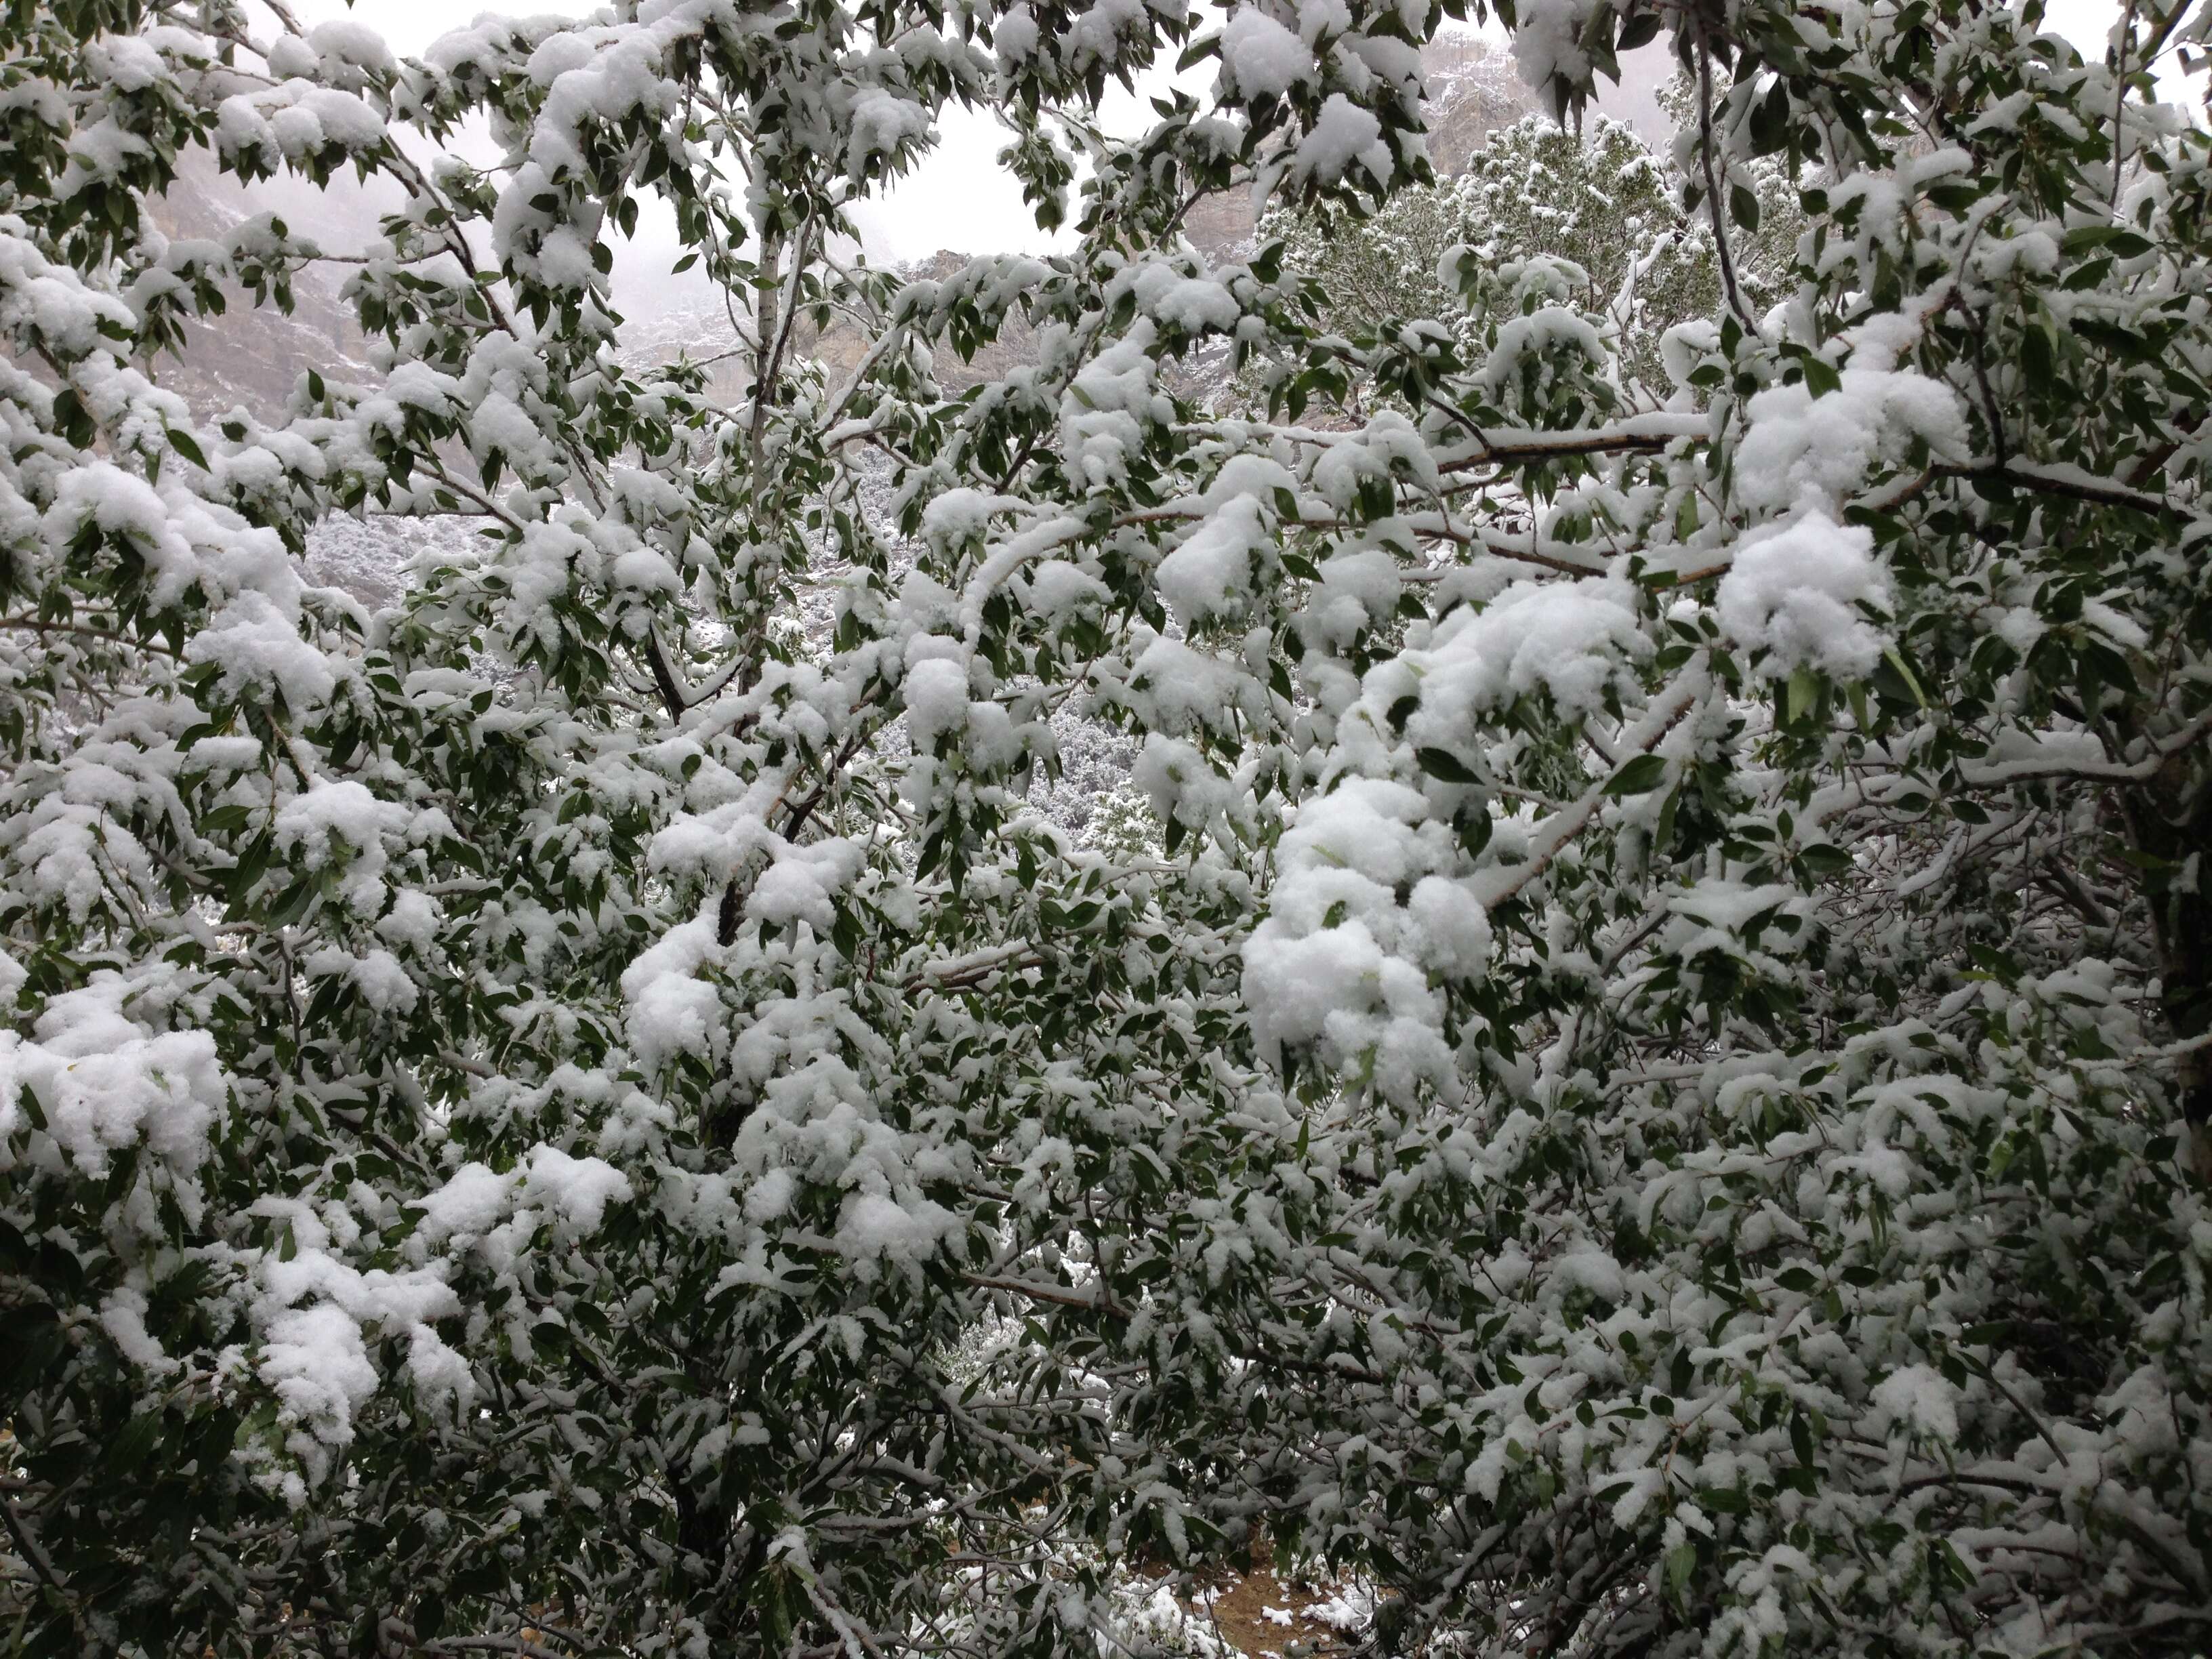
[[[303,0],[299,15],[307,22],[341,15],[343,0]],[[515,11],[586,11],[575,0],[526,0]],[[398,53],[418,53],[436,35],[453,29],[465,15],[476,15],[482,7],[456,7],[451,0],[363,0],[352,13],[372,20]],[[2104,33],[2119,15],[2112,0],[2048,0],[2048,27],[2070,38],[2084,55],[2104,53]],[[1495,35],[1493,31],[1493,38]],[[1652,108],[1652,86],[1672,73],[1672,60],[1663,42],[1635,53],[1626,64],[1624,86],[1608,91],[1599,100],[1621,117],[1646,115]],[[1186,84],[1203,93],[1212,77],[1206,64],[1186,77]],[[1139,97],[1115,91],[1108,119],[1121,131],[1139,131],[1150,108],[1144,102],[1168,84],[1168,75],[1155,73],[1139,84]],[[2183,95],[2179,84],[2170,84],[2168,95]],[[1648,119],[1639,119],[1646,126]],[[1657,137],[1657,135],[1648,135]],[[940,248],[960,252],[1044,252],[1060,246],[1064,237],[1046,237],[1037,230],[1022,206],[1020,186],[998,166],[998,150],[1004,135],[987,115],[951,111],[940,122],[938,146],[902,179],[887,197],[860,204],[854,219],[860,226],[863,243],[874,259],[922,259]],[[617,283],[628,288],[639,279],[661,276],[675,254],[672,219],[646,219],[639,223],[639,246],[626,250],[617,263]],[[666,281],[666,279],[664,279]]]

